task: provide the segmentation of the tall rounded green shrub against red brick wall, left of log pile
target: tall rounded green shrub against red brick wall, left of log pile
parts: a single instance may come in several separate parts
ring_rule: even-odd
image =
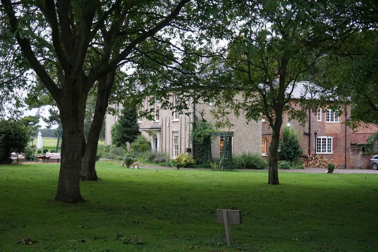
[[[288,161],[298,160],[303,153],[301,135],[294,129],[286,126],[283,129],[283,138],[280,140],[281,155]]]

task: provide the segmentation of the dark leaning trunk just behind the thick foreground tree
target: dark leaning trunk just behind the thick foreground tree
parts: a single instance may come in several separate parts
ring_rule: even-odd
[[[106,109],[108,107],[108,100],[111,88],[113,86],[114,77],[115,72],[112,72],[98,80],[95,113],[93,115],[91,128],[88,132],[87,146],[85,148],[85,154],[82,159],[80,171],[80,177],[82,180],[98,180],[95,168],[97,160],[97,146]]]

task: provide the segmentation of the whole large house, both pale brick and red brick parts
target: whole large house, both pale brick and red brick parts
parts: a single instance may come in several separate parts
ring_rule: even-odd
[[[292,93],[292,106],[295,104],[295,99],[299,99],[305,95],[306,98],[316,98],[316,96],[307,93],[306,86],[313,85],[310,82],[298,82]],[[304,93],[305,92],[305,93]],[[241,95],[239,97],[242,99]],[[174,93],[170,94],[170,102],[175,104],[177,97]],[[155,120],[150,121],[146,118],[138,118],[139,131],[141,135],[151,141],[151,147],[155,151],[166,152],[170,158],[176,157],[180,153],[192,154],[196,148],[190,141],[190,134],[192,132],[192,123],[194,117],[200,118],[200,111],[204,111],[204,119],[210,123],[216,120],[208,113],[211,109],[211,103],[194,104],[188,101],[188,107],[191,108],[190,115],[180,114],[177,111],[161,109],[160,102],[152,106],[148,104],[149,99],[146,98],[139,109],[155,111]],[[331,102],[330,102],[331,103]],[[121,105],[113,104],[113,108],[121,109]],[[299,125],[297,121],[289,121],[288,115],[284,115],[283,124],[281,128],[281,137],[283,128],[286,125],[294,127],[297,131],[303,132],[302,148],[304,154],[316,153],[325,156],[329,160],[333,160],[336,165],[341,168],[349,166],[350,162],[350,129],[342,124],[345,119],[349,118],[350,107],[347,107],[346,114],[338,114],[336,111],[330,109],[318,109],[314,111],[308,110],[308,117],[305,126]],[[234,126],[230,129],[223,128],[220,131],[234,133],[232,139],[232,152],[234,155],[242,154],[243,152],[259,152],[262,156],[269,156],[269,146],[271,142],[271,129],[268,122],[262,120],[258,122],[246,123],[245,117],[242,114],[237,118],[233,113],[229,115],[229,120]],[[110,128],[117,121],[117,115],[108,115],[105,122],[105,142],[110,144]],[[212,158],[220,157],[222,153],[224,139],[217,137],[212,139],[211,149]]]

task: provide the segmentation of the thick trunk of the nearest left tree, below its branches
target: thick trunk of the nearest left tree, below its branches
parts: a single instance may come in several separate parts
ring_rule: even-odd
[[[82,112],[84,113],[84,112]],[[81,159],[84,155],[85,138],[83,134],[84,118],[70,113],[70,116],[63,115],[62,121],[62,153],[59,171],[58,189],[55,200],[77,203],[84,199],[80,194],[80,168]]]

